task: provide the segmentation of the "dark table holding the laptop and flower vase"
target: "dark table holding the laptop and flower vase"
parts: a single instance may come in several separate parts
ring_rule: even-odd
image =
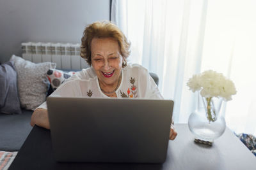
[[[212,146],[195,143],[187,124],[176,124],[178,136],[169,141],[163,164],[60,163],[52,153],[51,134],[35,126],[20,148],[13,169],[256,169],[256,157],[226,129]]]

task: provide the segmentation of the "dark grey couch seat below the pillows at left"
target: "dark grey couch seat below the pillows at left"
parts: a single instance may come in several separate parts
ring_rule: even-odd
[[[0,114],[0,150],[19,151],[32,129],[32,113],[31,110],[22,110],[20,115]]]

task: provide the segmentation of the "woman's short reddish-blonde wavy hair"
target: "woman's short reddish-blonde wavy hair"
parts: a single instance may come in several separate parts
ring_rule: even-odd
[[[93,38],[113,38],[118,42],[120,47],[120,52],[124,58],[123,67],[127,65],[126,59],[130,55],[131,43],[127,41],[124,33],[118,29],[115,24],[109,21],[93,22],[93,24],[88,25],[83,32],[83,38],[81,39],[81,52],[80,55],[83,59],[92,65],[91,57],[91,44]]]

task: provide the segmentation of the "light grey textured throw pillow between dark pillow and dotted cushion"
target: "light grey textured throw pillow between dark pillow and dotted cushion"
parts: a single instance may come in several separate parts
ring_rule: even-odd
[[[47,90],[49,89],[46,73],[49,69],[54,69],[56,63],[42,62],[35,64],[15,55],[12,55],[10,60],[14,62],[18,75],[20,105],[27,110],[35,110],[46,99]]]

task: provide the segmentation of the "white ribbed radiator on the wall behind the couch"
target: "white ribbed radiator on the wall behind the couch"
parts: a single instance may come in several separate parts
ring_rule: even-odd
[[[22,58],[31,62],[55,62],[56,69],[80,70],[89,67],[80,57],[80,44],[21,43]]]

